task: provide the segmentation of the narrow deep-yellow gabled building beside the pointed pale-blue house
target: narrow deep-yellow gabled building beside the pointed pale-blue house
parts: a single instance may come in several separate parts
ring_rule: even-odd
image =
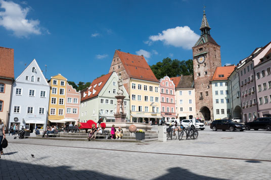
[[[61,74],[51,77],[48,120],[54,123],[64,119],[67,79]]]

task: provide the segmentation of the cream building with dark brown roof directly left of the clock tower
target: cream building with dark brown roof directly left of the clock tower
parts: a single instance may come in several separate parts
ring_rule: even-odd
[[[177,118],[181,121],[197,117],[193,76],[182,75],[171,80],[175,84]]]

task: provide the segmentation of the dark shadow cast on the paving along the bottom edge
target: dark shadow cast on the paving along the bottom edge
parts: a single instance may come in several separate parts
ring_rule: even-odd
[[[89,162],[91,164],[91,162]],[[119,176],[108,175],[101,172],[96,172],[94,170],[75,170],[71,169],[73,167],[63,165],[53,167],[50,165],[38,165],[24,162],[10,161],[6,159],[0,160],[0,179],[135,179],[135,177],[130,176],[129,178],[122,178]],[[91,168],[91,166],[89,166]],[[123,167],[122,167],[123,169]],[[102,171],[111,172],[110,168],[101,167]],[[113,170],[114,171],[114,170]],[[12,172],[12,173],[11,173]],[[122,173],[125,173],[123,169]],[[136,177],[138,178],[138,177]],[[143,177],[142,177],[143,178]],[[145,177],[146,178],[146,177]],[[147,177],[151,179],[150,177]],[[190,172],[187,169],[180,167],[173,167],[168,169],[168,173],[159,176],[154,179],[220,179],[212,178],[204,175],[198,175]]]

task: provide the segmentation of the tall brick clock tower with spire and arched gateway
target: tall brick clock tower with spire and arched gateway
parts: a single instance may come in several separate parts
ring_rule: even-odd
[[[210,80],[216,67],[221,66],[220,46],[210,35],[205,10],[200,26],[201,36],[193,49],[193,67],[197,117],[213,119],[212,86]]]

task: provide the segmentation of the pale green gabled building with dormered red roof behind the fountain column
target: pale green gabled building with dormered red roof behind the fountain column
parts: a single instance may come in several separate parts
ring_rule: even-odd
[[[81,91],[80,122],[88,120],[98,122],[103,118],[104,122],[115,122],[118,91],[118,76],[115,72],[95,79],[92,84]],[[124,112],[126,121],[130,119],[129,95],[125,88],[124,92]]]

